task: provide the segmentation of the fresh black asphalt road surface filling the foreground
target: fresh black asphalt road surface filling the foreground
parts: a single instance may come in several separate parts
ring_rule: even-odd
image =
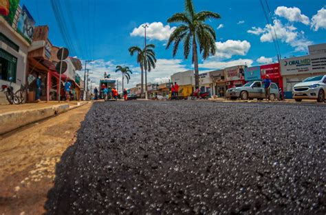
[[[47,214],[325,214],[326,106],[94,103]]]

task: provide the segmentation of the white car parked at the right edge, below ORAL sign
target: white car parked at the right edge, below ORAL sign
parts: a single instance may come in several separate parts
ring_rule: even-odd
[[[292,95],[296,101],[303,99],[317,99],[318,102],[325,101],[326,74],[309,77],[301,83],[293,86]]]

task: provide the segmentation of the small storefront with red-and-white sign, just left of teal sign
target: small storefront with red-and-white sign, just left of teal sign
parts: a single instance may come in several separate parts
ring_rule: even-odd
[[[225,69],[228,88],[240,87],[245,83],[245,68],[245,65],[236,65]]]

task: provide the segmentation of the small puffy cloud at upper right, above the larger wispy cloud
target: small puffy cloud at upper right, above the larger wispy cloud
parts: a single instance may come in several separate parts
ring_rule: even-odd
[[[275,14],[279,17],[287,19],[288,21],[300,22],[305,25],[309,25],[310,23],[309,17],[307,17],[305,14],[301,14],[301,10],[296,7],[287,8],[285,6],[280,6],[276,8]]]

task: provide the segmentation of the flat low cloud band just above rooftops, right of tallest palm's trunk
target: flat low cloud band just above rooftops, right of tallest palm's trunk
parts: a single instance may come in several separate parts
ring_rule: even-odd
[[[248,65],[251,66],[252,59],[237,59],[233,61],[219,61],[218,59],[208,59],[207,61],[204,61],[203,63],[199,64],[199,68],[202,69],[210,69],[210,70],[219,70],[228,68],[235,65]]]

